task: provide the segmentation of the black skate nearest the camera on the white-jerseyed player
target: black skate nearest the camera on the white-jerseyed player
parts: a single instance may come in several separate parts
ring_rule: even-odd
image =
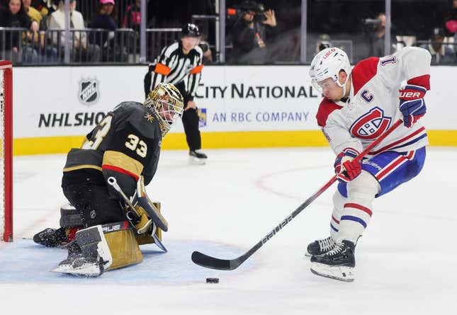
[[[334,248],[322,255],[311,257],[311,272],[322,277],[336,280],[354,281],[354,256],[355,244],[351,241],[342,241],[335,244]]]

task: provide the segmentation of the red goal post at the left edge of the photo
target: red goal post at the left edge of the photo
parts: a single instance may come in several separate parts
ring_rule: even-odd
[[[13,67],[0,60],[0,236],[13,241]]]

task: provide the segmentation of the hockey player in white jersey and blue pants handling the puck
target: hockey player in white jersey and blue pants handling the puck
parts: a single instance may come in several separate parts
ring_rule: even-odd
[[[354,250],[374,212],[373,200],[422,170],[428,139],[419,118],[426,113],[430,59],[427,50],[417,47],[364,59],[354,69],[335,47],[312,59],[312,84],[325,96],[317,123],[337,155],[339,180],[330,236],[308,246],[312,273],[353,281]],[[403,124],[363,161],[352,161],[399,118]]]

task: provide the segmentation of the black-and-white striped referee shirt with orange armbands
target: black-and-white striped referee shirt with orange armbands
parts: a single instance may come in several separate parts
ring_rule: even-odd
[[[193,99],[201,78],[202,59],[203,51],[198,45],[187,55],[184,55],[181,41],[165,47],[155,60],[149,91],[161,82],[176,85],[184,81],[188,97]]]

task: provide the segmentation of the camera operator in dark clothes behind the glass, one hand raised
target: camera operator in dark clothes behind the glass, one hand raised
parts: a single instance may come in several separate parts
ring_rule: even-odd
[[[264,63],[267,33],[276,28],[275,13],[255,1],[244,1],[240,10],[242,18],[232,30],[234,62]]]

